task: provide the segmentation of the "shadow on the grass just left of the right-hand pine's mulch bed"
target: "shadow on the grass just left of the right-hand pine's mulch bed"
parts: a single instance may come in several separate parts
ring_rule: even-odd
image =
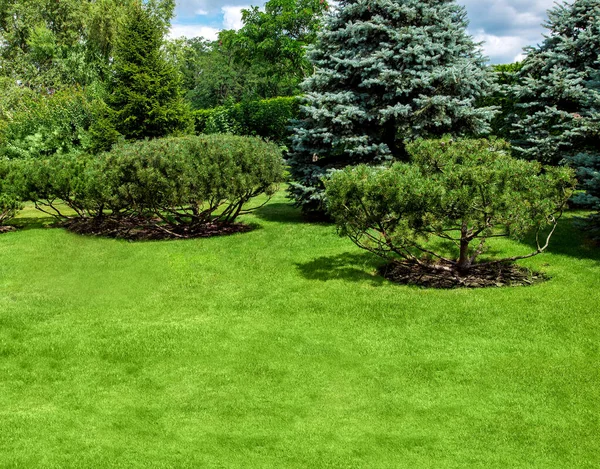
[[[377,273],[385,261],[370,253],[345,252],[335,256],[323,256],[304,264],[296,264],[300,274],[307,280],[348,280],[382,285],[386,280]]]

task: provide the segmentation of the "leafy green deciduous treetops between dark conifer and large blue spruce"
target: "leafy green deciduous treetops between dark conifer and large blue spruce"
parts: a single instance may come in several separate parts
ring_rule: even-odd
[[[323,0],[270,0],[264,11],[243,10],[242,28],[221,31],[216,41],[170,41],[192,107],[298,94],[313,71],[306,46],[315,41],[327,8]]]

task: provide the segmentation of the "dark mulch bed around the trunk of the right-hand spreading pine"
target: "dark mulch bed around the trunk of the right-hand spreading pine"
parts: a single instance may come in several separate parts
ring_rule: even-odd
[[[473,266],[468,274],[434,270],[418,264],[392,263],[379,269],[392,282],[427,288],[486,288],[528,286],[548,278],[516,264]]]

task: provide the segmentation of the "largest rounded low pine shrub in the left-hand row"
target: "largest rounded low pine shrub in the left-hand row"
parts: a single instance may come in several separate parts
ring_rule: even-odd
[[[166,138],[101,155],[94,186],[113,215],[167,224],[232,223],[250,199],[272,194],[283,164],[276,145],[233,135]]]

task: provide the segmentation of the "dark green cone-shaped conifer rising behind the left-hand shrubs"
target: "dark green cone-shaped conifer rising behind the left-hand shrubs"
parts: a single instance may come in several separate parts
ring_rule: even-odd
[[[117,42],[108,105],[126,139],[163,137],[189,128],[180,76],[161,50],[163,25],[134,4]]]

